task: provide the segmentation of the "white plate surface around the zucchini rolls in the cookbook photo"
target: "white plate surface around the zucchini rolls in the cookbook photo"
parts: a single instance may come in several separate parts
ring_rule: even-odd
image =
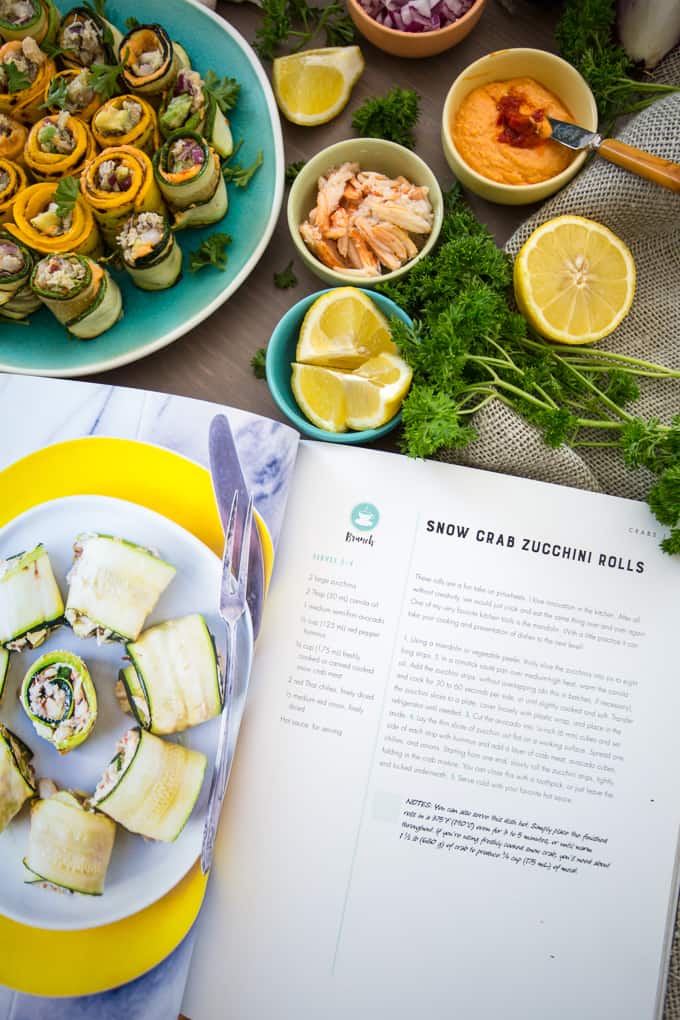
[[[65,576],[72,562],[72,544],[80,531],[118,534],[158,550],[177,573],[163,593],[146,626],[187,613],[203,613],[210,630],[223,650],[224,624],[217,612],[220,562],[203,543],[173,521],[146,507],[104,496],[72,496],[34,507],[11,521],[0,532],[0,557],[6,558],[42,542],[66,597]],[[250,621],[240,632],[240,667],[250,668]],[[56,649],[75,652],[87,663],[97,687],[99,714],[92,734],[63,757],[38,736],[18,701],[21,679],[39,656]],[[122,664],[124,646],[98,646],[83,641],[69,627],[56,630],[32,652],[12,653],[0,720],[34,752],[37,775],[54,779],[59,786],[92,793],[114,755],[118,737],[135,725],[116,702],[114,686]],[[22,865],[29,839],[30,809],[19,814],[0,833],[0,913],[40,928],[92,928],[127,917],[164,896],[194,864],[201,850],[203,821],[210,788],[217,743],[218,720],[212,719],[175,740],[208,756],[201,795],[185,829],[175,843],[150,843],[117,827],[113,854],[101,897],[59,894],[28,885],[31,877]]]

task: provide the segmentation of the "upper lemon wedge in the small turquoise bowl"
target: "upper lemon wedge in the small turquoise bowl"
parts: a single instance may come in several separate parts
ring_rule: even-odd
[[[363,291],[338,287],[317,298],[305,315],[296,360],[358,368],[383,352],[398,353],[387,319]]]

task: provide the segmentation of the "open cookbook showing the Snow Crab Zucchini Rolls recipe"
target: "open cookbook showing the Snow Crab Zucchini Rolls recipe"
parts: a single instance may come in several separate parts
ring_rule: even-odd
[[[0,835],[3,953],[10,931],[28,951],[49,939],[62,962],[54,949],[82,936],[126,941],[89,979],[55,974],[59,999],[5,967],[2,1020],[661,1017],[678,894],[680,565],[645,505],[299,443],[185,398],[15,376],[0,391],[3,559],[31,537],[60,583],[67,537],[116,525],[176,571],[146,626],[199,613],[222,643],[221,531],[198,466],[219,410],[275,548],[205,897],[205,784],[174,842],[118,826],[101,897],[23,884],[27,803]],[[157,469],[144,459],[165,456]],[[67,631],[10,652],[0,721],[20,721],[41,773],[77,786],[133,723],[106,679],[110,646]],[[102,714],[60,756],[17,694],[71,638]],[[214,725],[159,738],[203,753],[209,772]],[[146,944],[169,932],[156,959],[135,930]]]

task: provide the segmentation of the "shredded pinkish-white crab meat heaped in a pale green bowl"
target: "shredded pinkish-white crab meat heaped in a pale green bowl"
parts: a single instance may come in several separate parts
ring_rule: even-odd
[[[427,188],[348,162],[319,177],[300,234],[329,268],[373,276],[414,258],[419,247],[411,235],[424,239],[433,220]]]

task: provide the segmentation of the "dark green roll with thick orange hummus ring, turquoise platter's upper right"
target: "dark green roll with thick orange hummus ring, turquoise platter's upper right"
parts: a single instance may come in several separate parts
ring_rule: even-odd
[[[161,94],[174,85],[189,57],[178,43],[160,24],[139,24],[123,36],[118,45],[122,81],[129,92],[159,101]]]

